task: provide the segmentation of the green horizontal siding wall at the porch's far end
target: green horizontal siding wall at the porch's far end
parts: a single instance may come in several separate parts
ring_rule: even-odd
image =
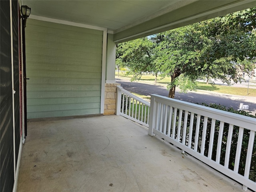
[[[28,19],[28,118],[100,113],[103,32]]]

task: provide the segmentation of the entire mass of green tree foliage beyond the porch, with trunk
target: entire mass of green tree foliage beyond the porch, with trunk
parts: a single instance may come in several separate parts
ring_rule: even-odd
[[[129,68],[132,80],[142,72],[171,77],[171,98],[176,86],[195,90],[198,78],[239,82],[242,72],[255,68],[255,13],[256,8],[246,9],[118,44],[117,63]]]

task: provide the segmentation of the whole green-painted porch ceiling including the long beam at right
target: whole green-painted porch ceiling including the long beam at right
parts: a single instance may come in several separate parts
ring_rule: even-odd
[[[123,42],[256,6],[255,0],[23,0],[31,14],[100,26]]]

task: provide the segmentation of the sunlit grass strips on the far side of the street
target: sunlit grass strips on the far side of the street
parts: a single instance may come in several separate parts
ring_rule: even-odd
[[[119,72],[119,77],[120,78],[127,78],[130,79],[132,78],[132,75],[125,75],[122,72]],[[116,78],[117,72],[116,72]],[[142,75],[141,82],[149,82],[150,84],[154,84],[155,81],[155,76],[151,74],[147,75]],[[166,86],[170,82],[170,77],[165,77],[165,78],[157,78],[157,83],[162,84],[163,86]],[[214,85],[212,86],[211,84],[206,84],[206,82],[198,82],[198,90],[206,90],[206,91],[213,91],[213,92],[219,92],[219,93],[224,93],[224,94],[232,94],[232,95],[242,95],[242,96],[247,96],[247,88],[240,88],[240,87],[232,87],[232,86],[226,86],[226,85]],[[256,86],[256,85],[252,85]],[[256,96],[256,89],[249,88],[249,95],[248,96]]]

